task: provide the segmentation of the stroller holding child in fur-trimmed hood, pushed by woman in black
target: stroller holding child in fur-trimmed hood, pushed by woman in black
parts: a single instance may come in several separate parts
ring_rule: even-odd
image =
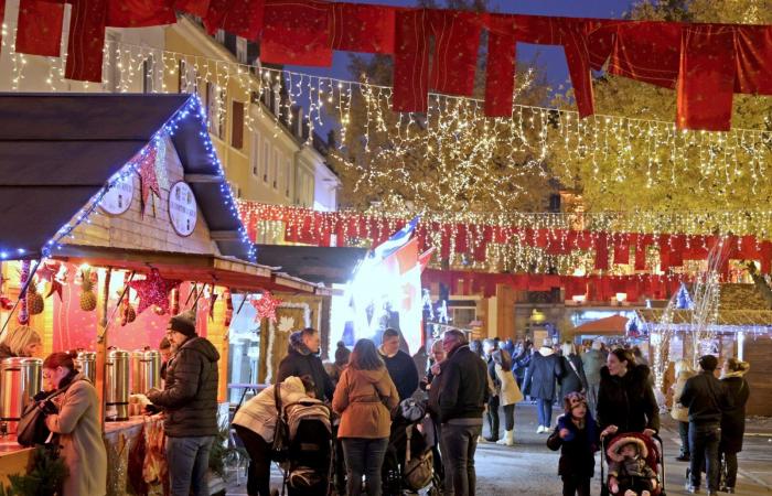
[[[616,435],[605,450],[609,461],[608,492],[620,496],[657,496],[660,450],[653,438],[640,433]]]

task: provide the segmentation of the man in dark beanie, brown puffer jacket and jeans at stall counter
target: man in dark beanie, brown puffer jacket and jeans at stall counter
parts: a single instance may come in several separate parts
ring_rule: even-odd
[[[219,353],[195,332],[195,313],[169,320],[167,337],[176,353],[167,366],[162,391],[148,399],[165,412],[167,462],[172,496],[210,494],[206,472],[217,424]]]

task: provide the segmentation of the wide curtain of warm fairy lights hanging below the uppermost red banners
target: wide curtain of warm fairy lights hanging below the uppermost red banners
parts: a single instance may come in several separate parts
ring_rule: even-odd
[[[25,87],[31,58],[47,65],[51,91],[79,84],[64,79],[64,56],[19,54],[7,41],[12,39],[2,41],[12,62],[12,89]],[[683,131],[673,122],[603,115],[579,119],[572,110],[527,105],[515,105],[511,117],[487,118],[481,100],[439,94],[430,94],[426,115],[395,114],[392,88],[365,79],[279,71],[109,39],[103,74],[101,85],[84,83],[84,89],[197,91],[215,134],[226,129],[232,98],[244,100],[248,131],[257,129],[258,118],[268,117],[278,133],[279,116],[292,126],[292,108],[302,105],[310,134],[328,125],[336,128],[331,160],[356,177],[354,192],[375,191],[390,206],[461,202],[471,209],[486,205],[507,211],[523,207],[523,197],[546,188],[554,177],[571,184],[580,176],[601,190],[688,185],[691,195],[711,196],[753,195],[770,187],[772,133],[764,130]],[[530,73],[518,77],[516,91],[526,91],[533,79]],[[279,88],[283,97],[270,111],[271,90]]]

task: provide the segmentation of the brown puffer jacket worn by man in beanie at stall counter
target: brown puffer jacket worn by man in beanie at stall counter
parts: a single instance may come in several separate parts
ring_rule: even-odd
[[[163,428],[170,438],[216,435],[217,370],[219,353],[204,337],[191,337],[180,346],[167,367],[162,391],[148,392],[153,405],[163,407]]]

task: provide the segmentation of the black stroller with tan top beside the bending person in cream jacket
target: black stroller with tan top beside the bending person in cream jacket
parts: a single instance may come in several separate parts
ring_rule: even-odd
[[[332,481],[333,438],[330,409],[318,400],[283,408],[282,421],[289,441],[281,494],[326,496]]]

